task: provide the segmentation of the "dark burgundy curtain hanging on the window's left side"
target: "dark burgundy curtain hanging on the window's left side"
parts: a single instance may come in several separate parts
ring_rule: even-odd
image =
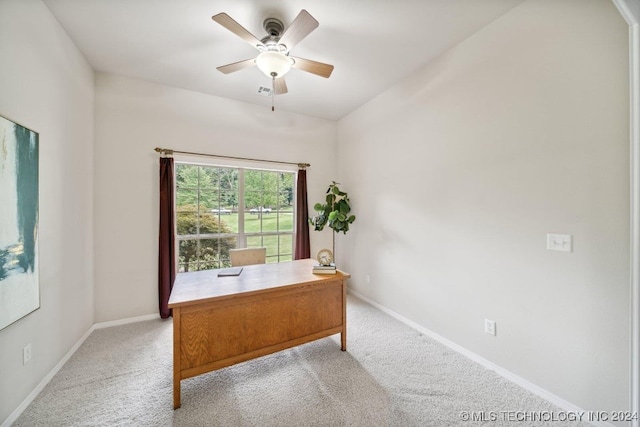
[[[176,254],[173,210],[173,158],[160,158],[160,238],[158,245],[158,295],[160,317],[171,316],[167,307],[176,277]]]

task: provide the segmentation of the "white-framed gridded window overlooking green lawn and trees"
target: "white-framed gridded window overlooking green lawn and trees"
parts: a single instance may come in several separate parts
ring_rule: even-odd
[[[291,261],[294,172],[176,163],[178,271],[228,267],[233,248]]]

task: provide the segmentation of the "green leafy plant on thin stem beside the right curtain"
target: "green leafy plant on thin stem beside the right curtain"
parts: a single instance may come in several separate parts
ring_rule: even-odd
[[[349,225],[353,224],[356,216],[351,213],[351,202],[349,195],[341,191],[339,183],[333,181],[327,189],[327,196],[324,203],[316,203],[313,210],[317,215],[309,218],[314,230],[322,231],[325,226],[333,230],[333,253],[336,250],[336,232],[347,234]]]

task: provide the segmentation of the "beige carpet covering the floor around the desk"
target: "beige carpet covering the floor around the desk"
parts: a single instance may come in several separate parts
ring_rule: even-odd
[[[347,345],[336,335],[184,380],[174,411],[171,320],[100,329],[14,426],[583,425],[509,421],[563,411],[353,296]]]

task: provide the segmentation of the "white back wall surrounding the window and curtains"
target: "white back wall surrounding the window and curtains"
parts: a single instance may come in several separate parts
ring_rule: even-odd
[[[158,312],[155,147],[308,162],[311,208],[336,178],[333,121],[114,75],[96,76],[95,137],[96,322]]]

